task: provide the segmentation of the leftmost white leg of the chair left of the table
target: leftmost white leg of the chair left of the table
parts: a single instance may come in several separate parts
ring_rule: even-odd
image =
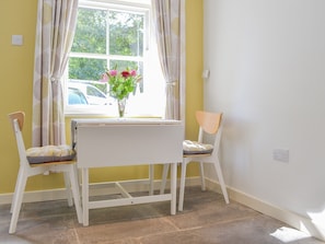
[[[26,187],[26,182],[27,182],[26,172],[20,169],[18,184],[14,193],[14,201],[12,202],[13,208],[12,208],[12,216],[10,220],[9,234],[13,234],[15,232],[18,219],[22,207],[23,195]]]

